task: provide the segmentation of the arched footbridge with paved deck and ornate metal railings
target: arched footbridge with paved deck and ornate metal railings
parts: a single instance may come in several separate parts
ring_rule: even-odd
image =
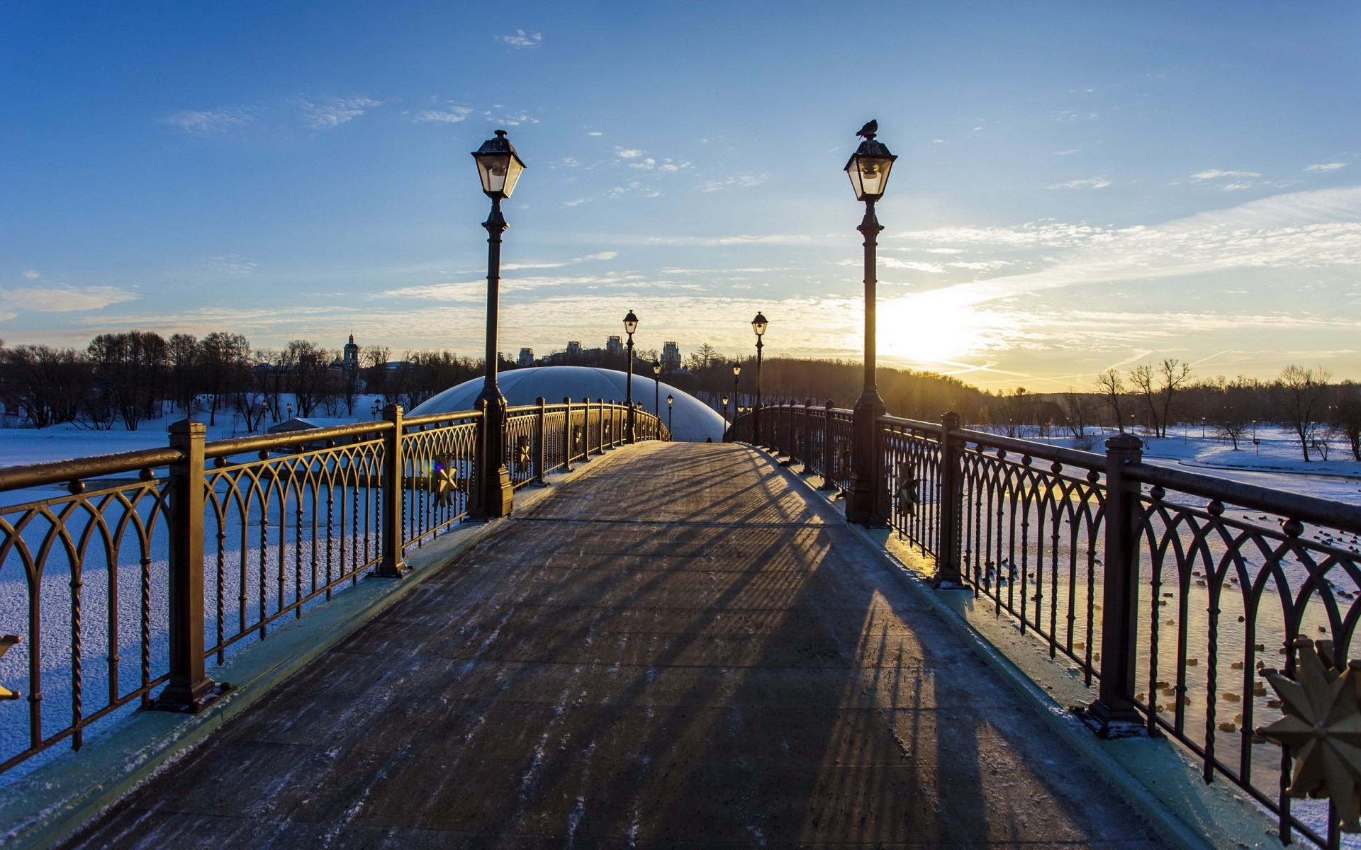
[[[1198,811],[1160,820],[1157,805],[1127,801],[1111,781],[1120,771],[1100,764],[1115,751],[1064,734],[1053,722],[1064,706],[1044,710],[945,611],[966,600],[1006,624],[999,643],[1028,643],[1090,688],[1077,714],[1094,733],[1165,736],[1282,838],[1337,842],[1335,811],[1292,800],[1289,752],[1256,733],[1281,702],[1255,668],[1309,668],[1307,635],[1332,638],[1317,649],[1346,666],[1354,596],[1332,578],[1351,577],[1357,556],[1334,536],[1361,530],[1356,509],[1151,466],[1131,438],[1101,456],[949,415],[885,416],[876,511],[931,590],[886,554],[882,532],[837,509],[849,411],[766,408],[759,430],[739,419],[728,443],[667,442],[636,412],[632,445],[626,413],[604,401],[512,409],[516,509],[486,524],[464,522],[478,513],[476,412],[389,409],[382,423],[208,445],[185,426],[166,450],[0,471],[8,494],[65,483],[0,509],[0,564],[18,562],[30,612],[16,635],[29,649],[27,745],[3,764],[24,774],[0,802],[10,836],[90,847],[1215,838]],[[318,636],[325,627],[309,624],[328,617],[335,628]],[[45,664],[53,643],[60,661]],[[265,668],[227,684],[234,669]],[[5,722],[18,704],[0,703]],[[133,726],[159,730],[157,755],[125,744],[132,767],[113,771],[124,787],[33,813],[38,786],[80,785],[86,733],[108,749],[139,707],[170,710],[135,711]],[[54,756],[64,743],[78,752]],[[1164,770],[1153,783],[1177,785]],[[56,823],[53,809],[69,816]]]

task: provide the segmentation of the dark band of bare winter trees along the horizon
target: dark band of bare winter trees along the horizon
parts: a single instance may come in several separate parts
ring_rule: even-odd
[[[622,352],[593,351],[572,359],[580,366],[625,369]],[[653,351],[636,352],[634,371],[651,374]],[[734,367],[739,374],[734,375]],[[516,369],[502,358],[499,370]],[[727,356],[701,345],[663,379],[715,409],[755,403],[755,358]],[[853,360],[773,356],[762,362],[764,404],[785,401],[848,408],[860,394],[863,370]],[[256,348],[240,333],[214,332],[199,339],[176,333],[129,330],[95,336],[82,351],[49,345],[7,348],[0,341],[0,404],[27,424],[78,423],[108,430],[122,423],[136,430],[165,404],[181,412],[203,411],[210,424],[220,412],[240,416],[248,431],[289,412],[354,416],[361,394],[411,409],[436,393],[485,374],[482,359],[444,351],[406,351],[392,359],[387,345],[369,345],[346,360],[342,350],[310,340],[282,348]],[[1202,428],[1240,447],[1259,423],[1289,427],[1305,461],[1327,460],[1345,447],[1361,460],[1361,385],[1332,382],[1323,367],[1286,366],[1271,381],[1222,375],[1198,379],[1191,364],[1165,358],[1109,369],[1089,389],[1032,393],[1025,388],[985,392],[931,371],[876,371],[887,412],[939,420],[945,411],[965,424],[1010,435],[1067,434],[1079,447],[1094,447],[1105,430],[1138,430],[1168,437],[1175,424]],[[724,397],[728,404],[724,405]],[[290,409],[291,408],[291,409]],[[363,411],[361,411],[363,412]]]

